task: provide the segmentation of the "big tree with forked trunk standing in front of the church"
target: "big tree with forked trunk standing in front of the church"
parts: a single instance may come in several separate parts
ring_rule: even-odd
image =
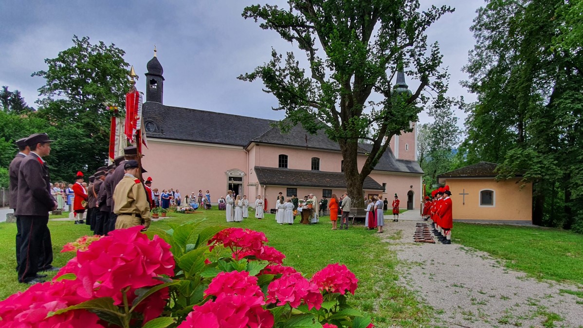
[[[285,55],[272,50],[272,59],[242,80],[263,80],[266,92],[279,101],[289,118],[308,132],[324,129],[338,142],[344,159],[347,191],[362,206],[364,179],[387,149],[391,137],[410,131],[422,105],[449,107],[445,97],[447,72],[441,68],[437,43],[428,44],[426,31],[449,6],[420,10],[418,0],[289,0],[289,8],[254,5],[243,17],[261,21],[304,53]],[[392,80],[399,68],[419,87],[395,92]],[[289,128],[289,126],[288,126]],[[358,143],[373,144],[359,171]]]

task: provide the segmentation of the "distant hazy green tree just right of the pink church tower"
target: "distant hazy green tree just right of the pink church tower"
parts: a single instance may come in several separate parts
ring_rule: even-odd
[[[461,130],[452,108],[430,107],[429,116],[433,122],[419,127],[417,158],[425,172],[424,183],[432,186],[438,183],[437,175],[452,169]]]

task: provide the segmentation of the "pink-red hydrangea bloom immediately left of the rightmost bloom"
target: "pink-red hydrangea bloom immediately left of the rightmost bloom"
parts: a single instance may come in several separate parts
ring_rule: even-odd
[[[310,283],[301,273],[284,274],[281,278],[273,280],[267,288],[267,302],[285,305],[289,302],[292,308],[300,306],[304,301],[308,309],[320,309],[322,306],[322,294],[316,284]]]

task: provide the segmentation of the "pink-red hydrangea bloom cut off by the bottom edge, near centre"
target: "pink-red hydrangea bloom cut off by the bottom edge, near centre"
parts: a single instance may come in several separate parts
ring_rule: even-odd
[[[273,315],[261,303],[258,297],[233,295],[195,305],[178,328],[271,328]]]

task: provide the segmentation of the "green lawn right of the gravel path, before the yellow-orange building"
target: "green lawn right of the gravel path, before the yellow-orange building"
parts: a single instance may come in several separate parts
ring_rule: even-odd
[[[561,229],[455,223],[454,242],[501,258],[529,276],[583,284],[583,235]]]

